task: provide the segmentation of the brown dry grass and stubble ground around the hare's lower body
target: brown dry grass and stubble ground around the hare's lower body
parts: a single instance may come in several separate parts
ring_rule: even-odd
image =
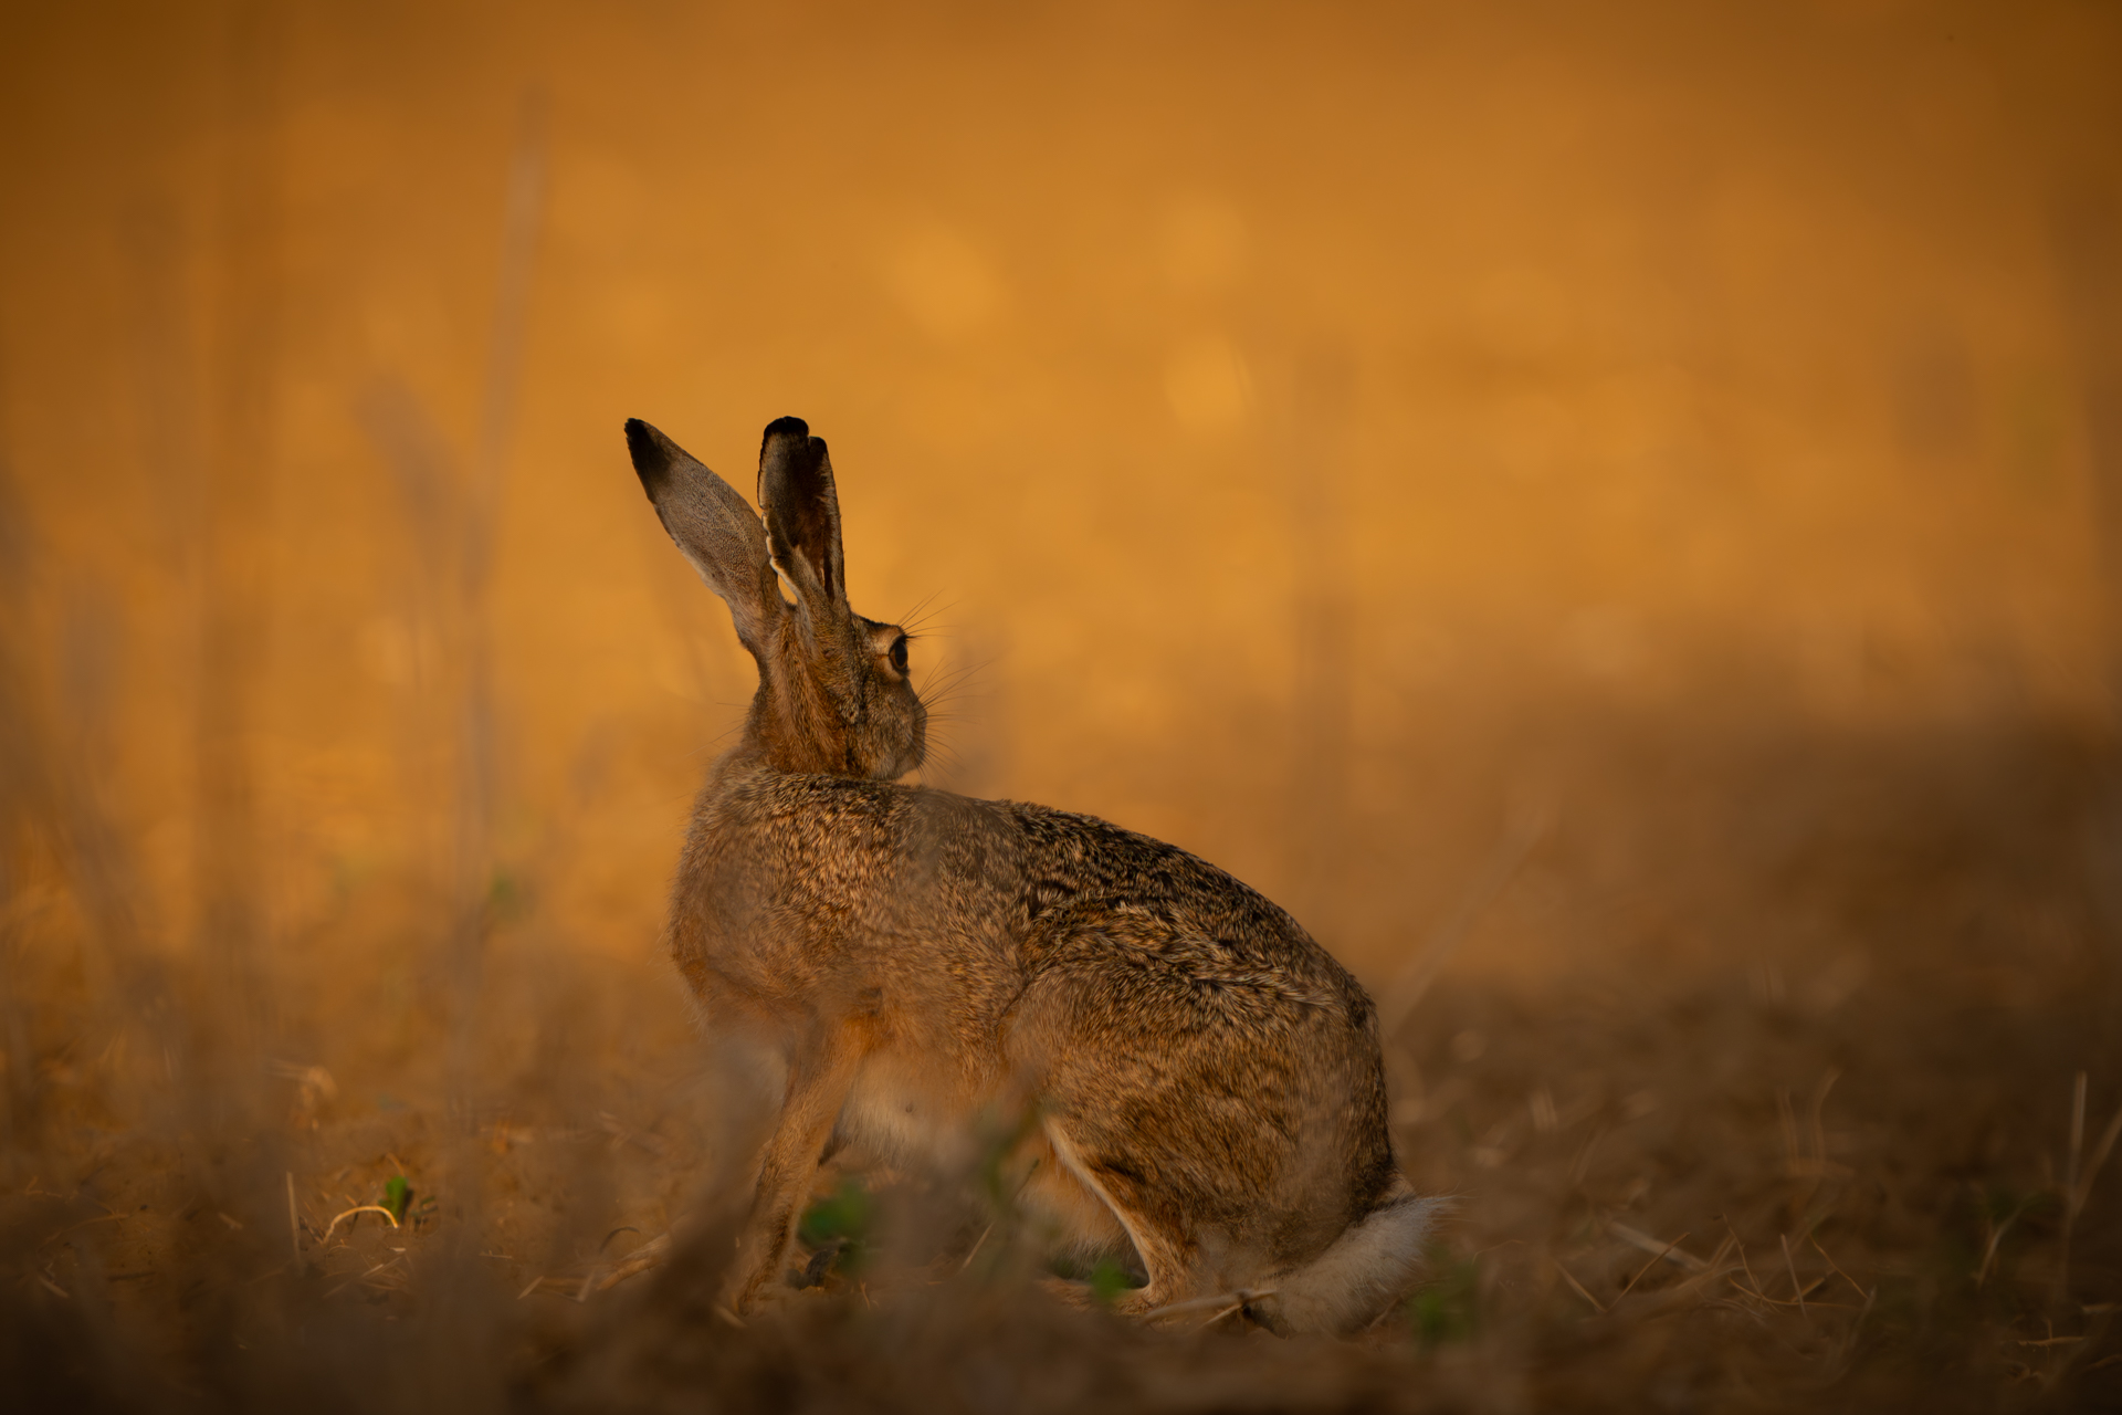
[[[2003,806],[1961,842],[2041,825]],[[418,897],[376,891],[301,940],[327,976],[267,989],[269,1033],[310,1050],[246,1071],[212,978],[89,986],[95,910],[25,836],[4,1381],[70,1409],[2114,1402],[2111,969],[2071,929],[2039,944],[2056,910],[2092,927],[2084,872],[1997,846],[1935,874],[1912,849],[1935,819],[1899,853],[1867,829],[1744,906],[1840,910],[1861,953],[1447,967],[1392,1067],[1405,1165],[1456,1218],[1426,1286],[1343,1343],[1063,1309],[1008,1222],[915,1182],[879,1182],[859,1262],[738,1328],[707,1294],[760,1116],[709,1084],[666,978],[497,925],[471,1016],[420,976]]]

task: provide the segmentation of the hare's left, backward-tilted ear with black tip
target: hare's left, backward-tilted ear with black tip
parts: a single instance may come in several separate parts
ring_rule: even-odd
[[[707,588],[730,605],[736,636],[751,656],[764,656],[783,605],[760,513],[736,488],[641,418],[626,420],[626,450],[664,530]]]

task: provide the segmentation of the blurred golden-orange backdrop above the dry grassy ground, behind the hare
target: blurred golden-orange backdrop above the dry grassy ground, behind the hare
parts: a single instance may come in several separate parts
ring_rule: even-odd
[[[15,785],[142,948],[654,957],[751,666],[628,416],[747,492],[770,418],[832,441],[927,781],[1182,842],[1371,982],[1460,925],[1519,978],[1833,950],[1700,895],[1880,791],[2007,827],[2090,770],[2010,743],[2107,732],[2105,4],[0,36]]]

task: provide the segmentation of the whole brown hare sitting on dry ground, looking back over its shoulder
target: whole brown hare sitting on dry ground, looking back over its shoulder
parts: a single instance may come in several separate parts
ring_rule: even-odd
[[[1131,1245],[1148,1281],[1120,1311],[1243,1305],[1280,1332],[1377,1317],[1437,1201],[1394,1167],[1362,986],[1186,851],[895,785],[927,709],[906,632],[847,602],[832,467],[802,420],[766,426],[764,520],[649,424],[626,443],[760,666],[668,929],[707,1025],[785,1063],[728,1303],[781,1279],[842,1146],[963,1158],[982,1116],[1029,1114],[1023,1201],[1082,1254]]]

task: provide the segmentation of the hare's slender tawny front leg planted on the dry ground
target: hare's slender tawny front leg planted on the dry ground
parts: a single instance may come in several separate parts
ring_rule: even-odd
[[[736,1262],[724,1283],[724,1300],[732,1311],[755,1305],[781,1275],[819,1158],[859,1065],[862,1044],[845,1027],[821,1029],[789,1056],[787,1095],[760,1160],[760,1184],[736,1243]]]

